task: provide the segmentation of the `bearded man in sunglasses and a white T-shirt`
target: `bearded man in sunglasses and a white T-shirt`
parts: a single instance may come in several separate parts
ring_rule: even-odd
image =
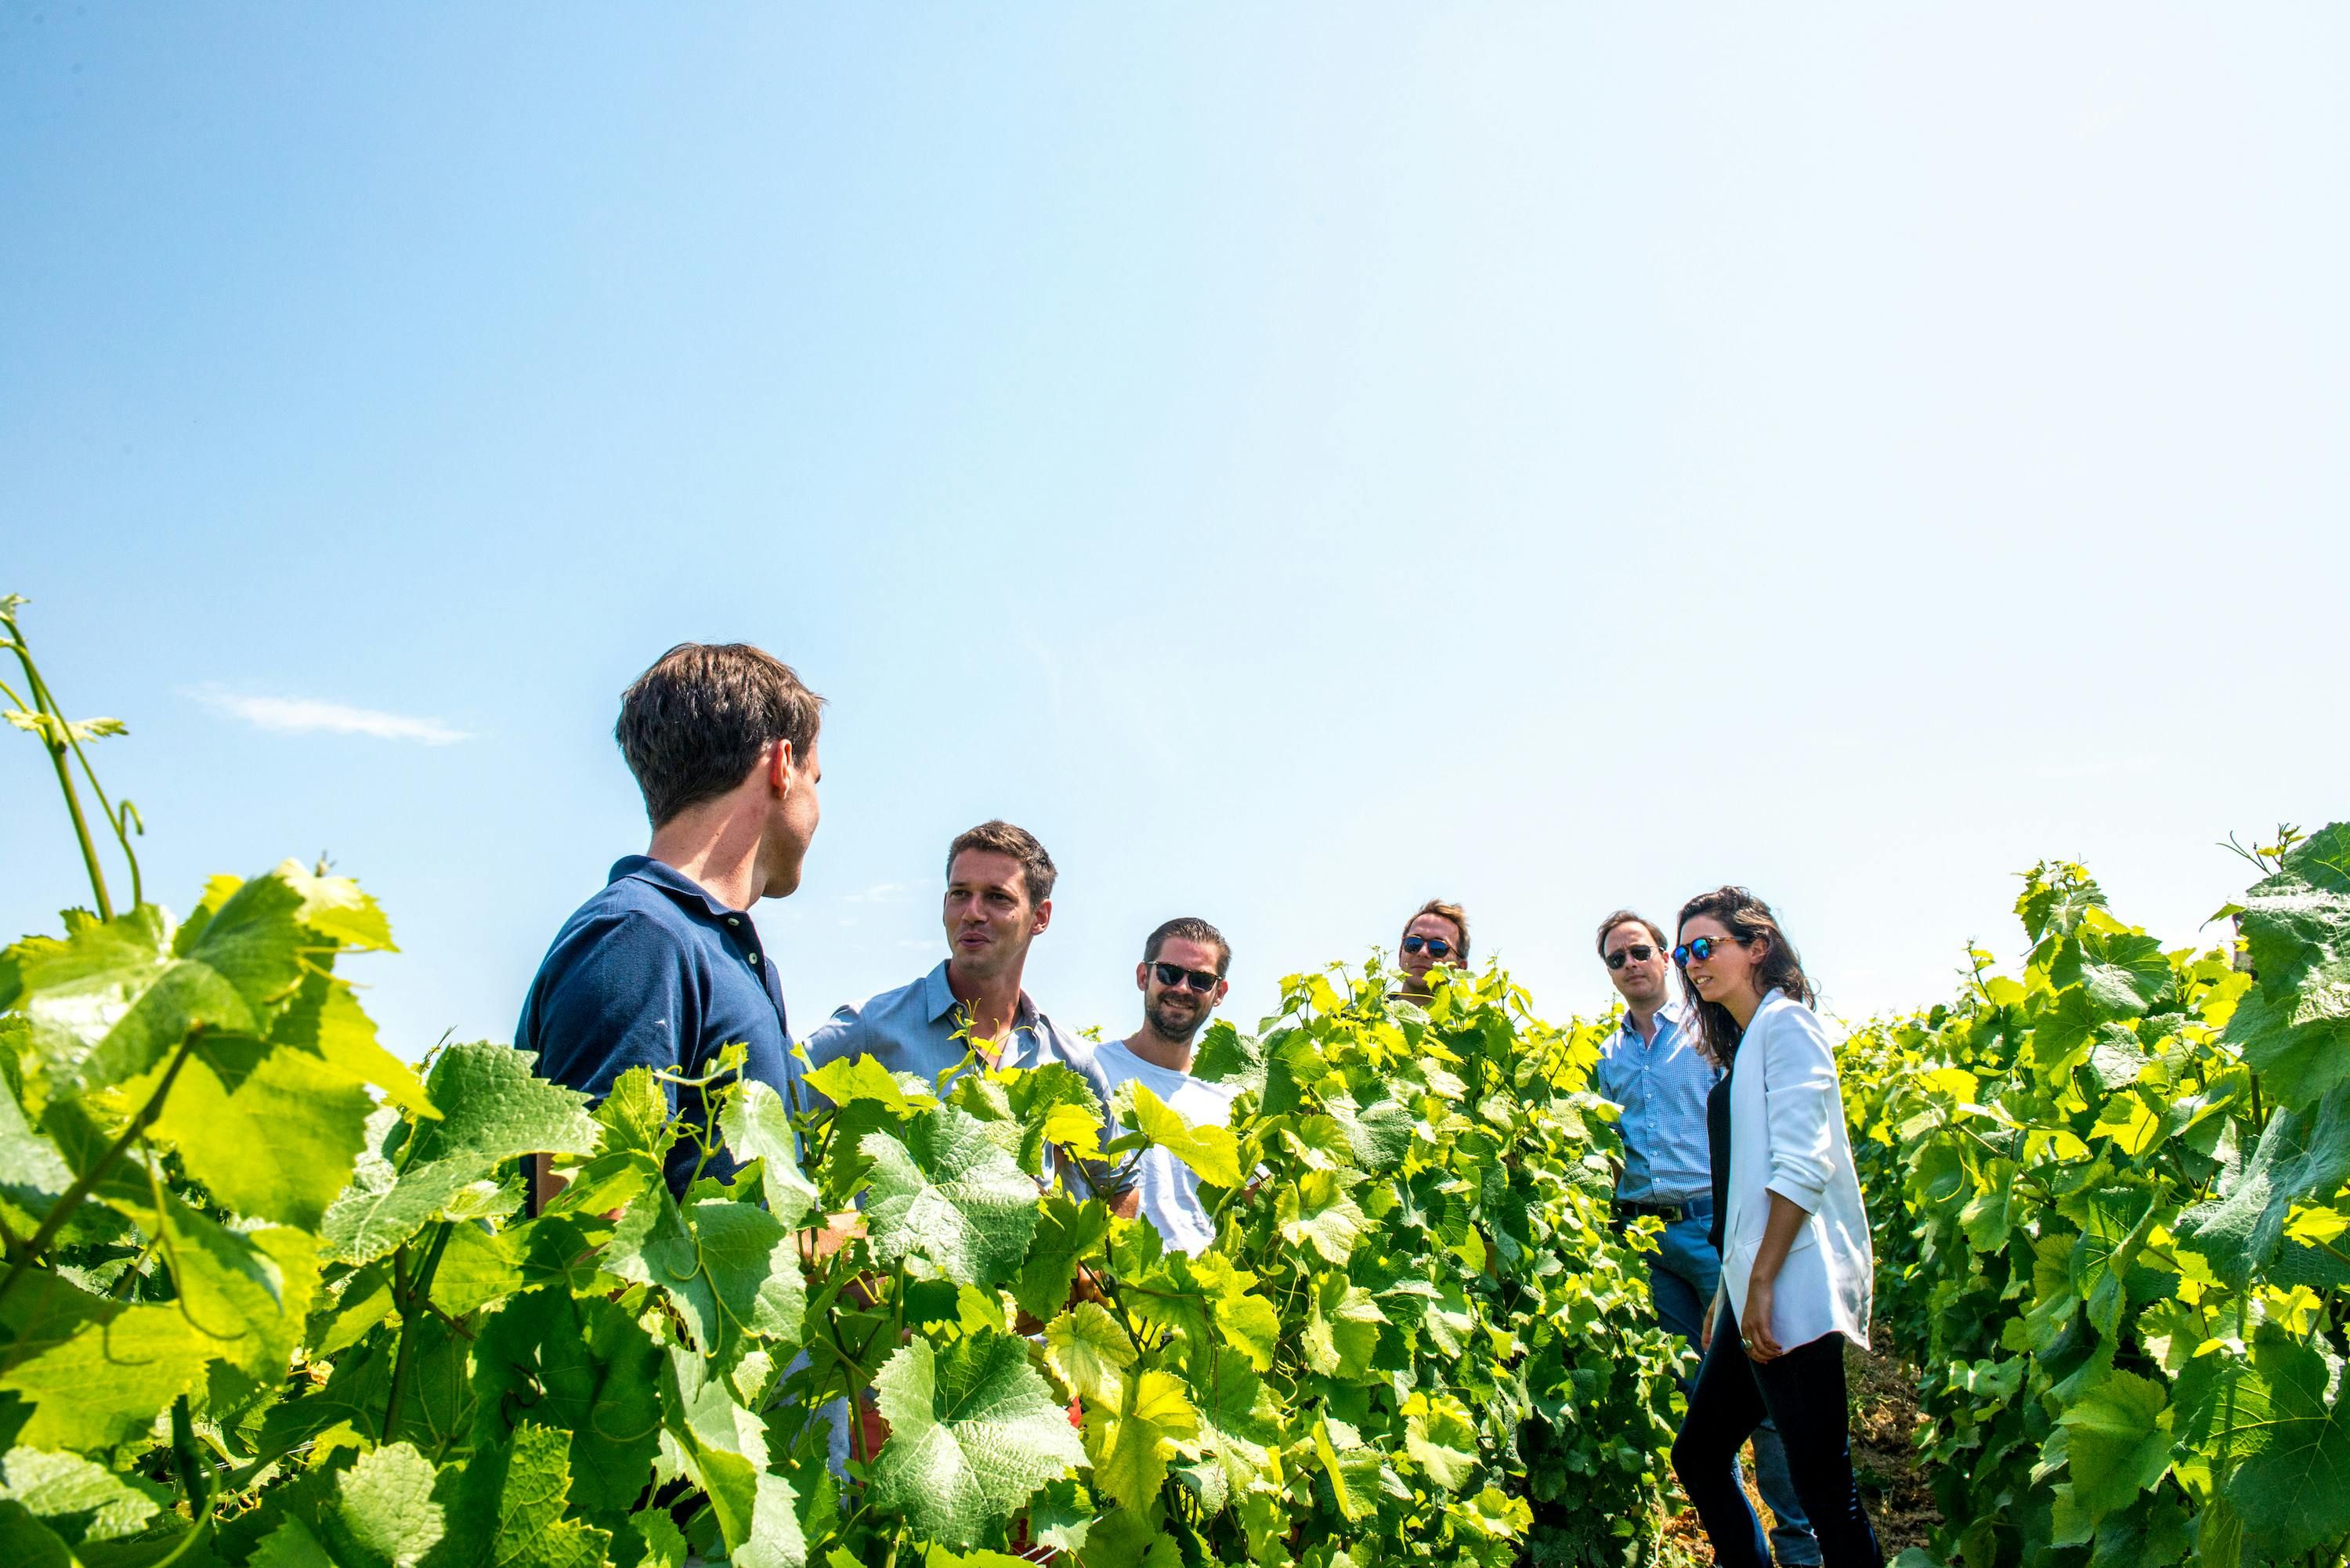
[[[1191,1077],[1191,1051],[1208,1013],[1231,990],[1231,945],[1203,919],[1170,919],[1142,943],[1135,964],[1135,987],[1142,992],[1142,1027],[1126,1039],[1102,1041],[1095,1060],[1102,1079],[1116,1093],[1121,1084],[1142,1084],[1191,1126],[1224,1126],[1231,1117],[1234,1084],[1206,1084]],[[1201,1253],[1215,1241],[1215,1220],[1198,1197],[1198,1175],[1161,1147],[1135,1154],[1126,1171],[1128,1194],[1142,1218],[1175,1253]]]

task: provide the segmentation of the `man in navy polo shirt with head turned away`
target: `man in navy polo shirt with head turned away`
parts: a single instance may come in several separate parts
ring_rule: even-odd
[[[703,1077],[728,1044],[743,1072],[785,1093],[783,983],[750,905],[787,898],[815,837],[822,698],[750,644],[682,642],[620,696],[613,738],[653,842],[555,933],[522,1001],[515,1046],[538,1072],[595,1098],[630,1067]],[[663,1084],[670,1110],[707,1126],[703,1091]],[[670,1150],[684,1192],[698,1152]],[[719,1154],[705,1175],[726,1175]]]

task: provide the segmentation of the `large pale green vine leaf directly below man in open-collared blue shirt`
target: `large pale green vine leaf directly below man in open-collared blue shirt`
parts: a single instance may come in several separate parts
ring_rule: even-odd
[[[985,1124],[940,1105],[905,1128],[867,1133],[872,1199],[865,1225],[884,1265],[928,1258],[947,1279],[992,1286],[1013,1274],[1036,1232],[1036,1182],[987,1138]]]

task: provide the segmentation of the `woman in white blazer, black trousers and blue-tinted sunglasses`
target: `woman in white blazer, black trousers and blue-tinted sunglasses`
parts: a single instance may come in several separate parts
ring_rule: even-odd
[[[1727,1077],[1727,1150],[1713,1150],[1723,1284],[1673,1469],[1725,1568],[1770,1568],[1737,1453],[1770,1418],[1826,1568],[1885,1554],[1852,1481],[1845,1340],[1868,1347],[1875,1258],[1845,1135],[1835,1046],[1770,905],[1746,889],[1699,893],[1673,947],[1706,1053]],[[1725,1119],[1708,1117],[1720,1135]]]

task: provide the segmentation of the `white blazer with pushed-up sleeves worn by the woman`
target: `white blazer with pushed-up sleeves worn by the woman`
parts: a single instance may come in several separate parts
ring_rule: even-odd
[[[1741,1324],[1772,1192],[1805,1211],[1772,1291],[1772,1335],[1795,1349],[1840,1333],[1866,1349],[1875,1253],[1845,1133],[1835,1046],[1819,1013],[1777,990],[1746,1025],[1730,1074],[1723,1291]]]

